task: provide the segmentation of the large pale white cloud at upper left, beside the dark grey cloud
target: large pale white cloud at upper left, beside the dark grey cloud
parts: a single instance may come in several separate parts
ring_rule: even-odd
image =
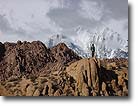
[[[62,28],[47,13],[60,5],[59,0],[0,0],[0,15],[8,21],[15,34],[20,31],[32,36],[47,32],[59,33]]]

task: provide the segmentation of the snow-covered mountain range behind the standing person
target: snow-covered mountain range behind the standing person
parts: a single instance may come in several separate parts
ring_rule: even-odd
[[[76,36],[54,35],[46,44],[53,47],[58,43],[65,43],[82,57],[91,57],[90,44],[96,47],[96,56],[100,58],[128,58],[128,42],[121,35],[109,28],[90,32],[82,28],[76,29]]]

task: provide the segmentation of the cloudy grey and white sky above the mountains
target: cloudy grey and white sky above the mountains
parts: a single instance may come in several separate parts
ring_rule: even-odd
[[[77,36],[81,27],[109,27],[128,36],[127,0],[0,0],[0,41]]]

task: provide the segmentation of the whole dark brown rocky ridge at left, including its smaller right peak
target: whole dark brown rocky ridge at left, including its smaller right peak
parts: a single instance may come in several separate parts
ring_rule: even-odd
[[[40,41],[0,43],[0,80],[11,76],[31,78],[48,75],[79,59],[81,57],[63,43],[51,49]]]

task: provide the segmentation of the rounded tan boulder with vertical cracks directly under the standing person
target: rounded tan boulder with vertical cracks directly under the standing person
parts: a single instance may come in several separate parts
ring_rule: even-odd
[[[79,92],[86,92],[83,91],[86,89],[86,85],[96,90],[97,93],[99,92],[99,70],[93,58],[77,61],[67,67],[66,71],[77,81]]]

